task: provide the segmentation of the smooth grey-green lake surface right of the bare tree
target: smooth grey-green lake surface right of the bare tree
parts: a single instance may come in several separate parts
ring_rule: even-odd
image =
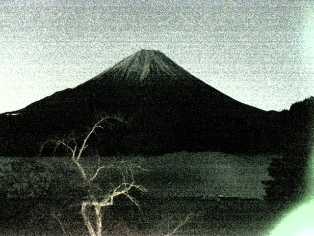
[[[225,196],[262,198],[262,180],[278,155],[240,155],[221,152],[179,152],[145,157],[148,169],[140,184],[154,197]]]

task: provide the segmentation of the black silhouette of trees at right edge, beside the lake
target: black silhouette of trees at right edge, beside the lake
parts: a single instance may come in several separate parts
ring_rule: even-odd
[[[272,180],[263,181],[266,200],[295,203],[307,195],[309,161],[314,134],[314,97],[291,105],[282,112],[285,146],[282,158],[274,158],[268,168]]]

